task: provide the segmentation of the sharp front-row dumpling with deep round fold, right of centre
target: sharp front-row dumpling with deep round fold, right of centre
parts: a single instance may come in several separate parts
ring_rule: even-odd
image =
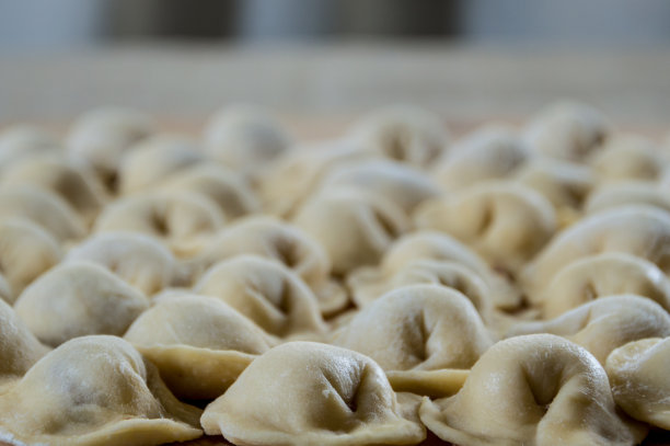
[[[593,356],[550,334],[498,342],[455,396],[425,399],[419,413],[437,436],[467,446],[634,446],[647,432],[617,414]]]

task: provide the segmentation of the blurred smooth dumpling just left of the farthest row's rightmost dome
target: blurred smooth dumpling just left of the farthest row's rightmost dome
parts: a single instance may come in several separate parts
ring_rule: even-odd
[[[431,175],[444,190],[455,191],[509,178],[531,158],[528,146],[512,129],[485,126],[457,141]]]

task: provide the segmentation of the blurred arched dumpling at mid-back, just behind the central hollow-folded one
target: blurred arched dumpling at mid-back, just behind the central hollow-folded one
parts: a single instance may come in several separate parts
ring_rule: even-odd
[[[390,160],[345,163],[332,169],[321,183],[324,190],[342,186],[380,195],[407,214],[440,192],[421,171]]]

